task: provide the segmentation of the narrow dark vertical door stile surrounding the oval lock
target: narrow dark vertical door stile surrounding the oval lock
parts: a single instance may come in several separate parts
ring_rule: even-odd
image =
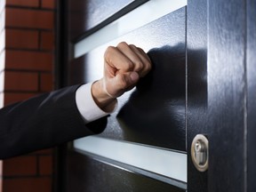
[[[207,1],[188,1],[187,76],[188,191],[203,192],[207,172],[196,170],[190,148],[196,134],[207,132]]]

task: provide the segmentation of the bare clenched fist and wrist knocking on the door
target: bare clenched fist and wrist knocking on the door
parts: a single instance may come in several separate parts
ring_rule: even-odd
[[[109,46],[104,54],[104,76],[92,84],[92,96],[100,108],[131,90],[151,69],[151,61],[140,47],[124,42]]]

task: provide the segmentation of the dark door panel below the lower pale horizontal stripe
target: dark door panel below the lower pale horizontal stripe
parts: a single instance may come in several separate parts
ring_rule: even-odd
[[[68,191],[86,192],[185,192],[170,184],[150,179],[144,175],[127,172],[124,168],[95,160],[93,156],[70,153]],[[114,165],[114,166],[113,166]],[[83,181],[81,179],[83,178]]]

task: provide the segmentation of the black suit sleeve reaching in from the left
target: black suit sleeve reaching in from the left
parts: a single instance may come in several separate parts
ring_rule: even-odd
[[[76,108],[78,86],[0,109],[0,159],[50,148],[103,131],[106,118],[84,124]]]

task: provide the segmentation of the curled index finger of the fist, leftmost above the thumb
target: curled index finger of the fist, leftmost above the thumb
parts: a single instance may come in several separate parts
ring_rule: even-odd
[[[109,46],[104,54],[105,65],[109,73],[114,73],[117,70],[121,72],[132,71],[133,63],[123,52],[113,46]],[[111,74],[114,75],[114,74]]]

